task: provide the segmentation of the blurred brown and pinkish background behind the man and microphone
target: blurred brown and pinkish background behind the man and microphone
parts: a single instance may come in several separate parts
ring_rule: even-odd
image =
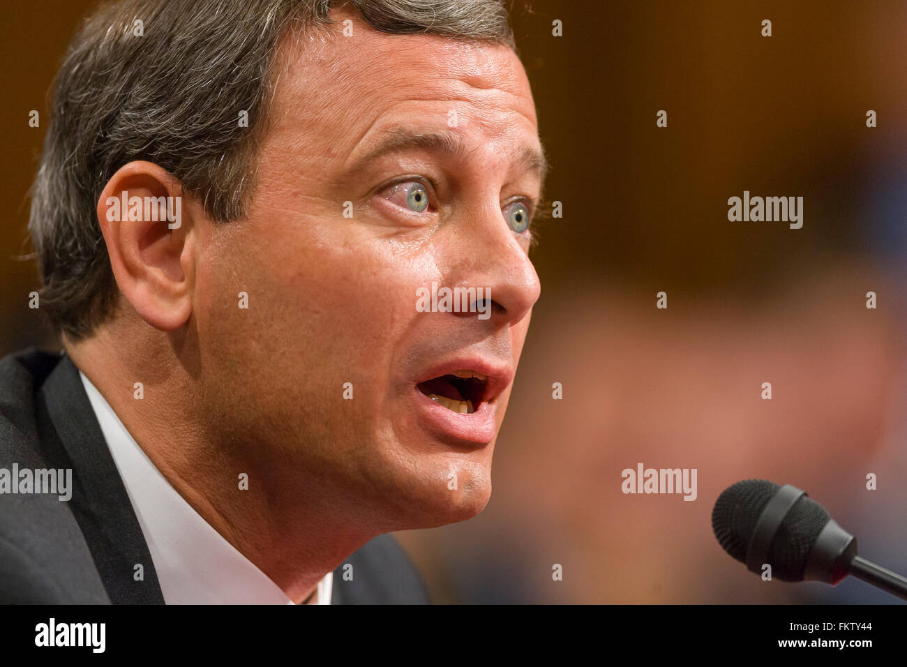
[[[58,347],[28,308],[27,191],[48,88],[93,5],[5,2],[3,355]],[[563,217],[533,250],[541,299],[491,503],[396,534],[434,601],[896,602],[855,581],[763,582],[710,517],[741,479],[793,484],[907,573],[907,4],[508,5]],[[803,228],[728,221],[745,190],[802,196]],[[622,494],[638,463],[697,468],[696,501]]]

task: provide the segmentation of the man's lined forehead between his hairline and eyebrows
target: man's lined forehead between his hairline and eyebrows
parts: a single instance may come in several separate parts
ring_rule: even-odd
[[[401,125],[455,128],[473,141],[530,137],[538,144],[530,84],[507,46],[385,34],[354,14],[332,17],[335,25],[281,44],[273,130],[335,155]]]

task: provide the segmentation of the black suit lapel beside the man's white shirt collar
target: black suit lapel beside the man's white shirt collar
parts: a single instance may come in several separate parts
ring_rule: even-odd
[[[54,442],[73,466],[70,505],[111,602],[164,603],[141,525],[98,424],[79,371],[63,355],[39,392],[42,439]],[[46,411],[42,419],[40,413]],[[136,581],[136,564],[143,580]]]

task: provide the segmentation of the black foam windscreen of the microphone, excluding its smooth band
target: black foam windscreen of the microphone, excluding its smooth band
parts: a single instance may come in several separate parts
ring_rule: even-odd
[[[727,487],[712,510],[712,530],[718,543],[736,560],[746,563],[746,549],[759,516],[780,486],[765,479],[746,479]],[[831,516],[822,505],[803,495],[785,515],[766,556],[772,576],[801,582],[806,560]]]

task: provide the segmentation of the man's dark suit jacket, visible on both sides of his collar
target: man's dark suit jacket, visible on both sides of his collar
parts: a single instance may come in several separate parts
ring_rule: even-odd
[[[0,603],[159,603],[141,526],[66,355],[35,348],[0,360],[0,468],[72,468],[73,496],[0,493]],[[142,564],[144,580],[133,579]],[[428,603],[391,535],[341,565],[332,604]],[[347,568],[348,570],[348,568]]]

